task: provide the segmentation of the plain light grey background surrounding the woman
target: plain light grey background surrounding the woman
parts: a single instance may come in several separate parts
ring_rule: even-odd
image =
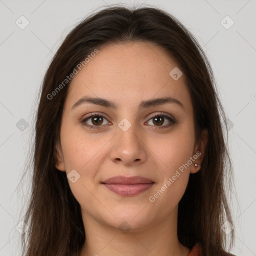
[[[20,254],[20,210],[28,198],[31,172],[18,183],[28,163],[36,95],[49,61],[64,36],[88,12],[117,2],[0,0],[0,256]],[[123,1],[143,2],[180,19],[209,58],[230,120],[235,189],[229,203],[236,231],[232,253],[256,255],[256,0]],[[29,22],[24,29],[19,27],[25,25],[21,15]],[[234,21],[228,29],[222,24],[229,26],[231,20],[221,23],[226,15]]]

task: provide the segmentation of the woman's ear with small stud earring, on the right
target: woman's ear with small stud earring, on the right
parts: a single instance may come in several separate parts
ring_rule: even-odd
[[[201,131],[200,137],[198,140],[195,142],[194,149],[193,149],[193,157],[194,159],[197,158],[193,161],[191,167],[190,167],[190,173],[195,173],[201,168],[201,163],[205,154],[205,148],[207,145],[208,141],[208,130],[203,129]],[[196,164],[199,164],[199,166],[195,166]]]

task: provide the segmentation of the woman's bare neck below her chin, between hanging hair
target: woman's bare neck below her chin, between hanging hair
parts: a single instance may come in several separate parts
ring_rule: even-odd
[[[161,222],[126,232],[102,224],[84,212],[82,216],[86,238],[80,256],[186,256],[189,253],[177,238],[177,208]]]

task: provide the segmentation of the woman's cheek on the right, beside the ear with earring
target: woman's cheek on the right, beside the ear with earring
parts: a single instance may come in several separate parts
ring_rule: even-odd
[[[183,123],[165,137],[151,140],[150,146],[161,166],[160,182],[151,200],[166,205],[162,214],[178,204],[187,186],[194,146],[194,130],[190,127],[189,122]]]

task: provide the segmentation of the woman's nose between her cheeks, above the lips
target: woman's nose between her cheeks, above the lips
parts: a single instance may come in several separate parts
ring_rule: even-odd
[[[144,162],[147,154],[142,133],[135,130],[134,124],[126,131],[123,131],[119,127],[116,129],[116,135],[112,140],[111,160],[125,166],[137,165]]]

